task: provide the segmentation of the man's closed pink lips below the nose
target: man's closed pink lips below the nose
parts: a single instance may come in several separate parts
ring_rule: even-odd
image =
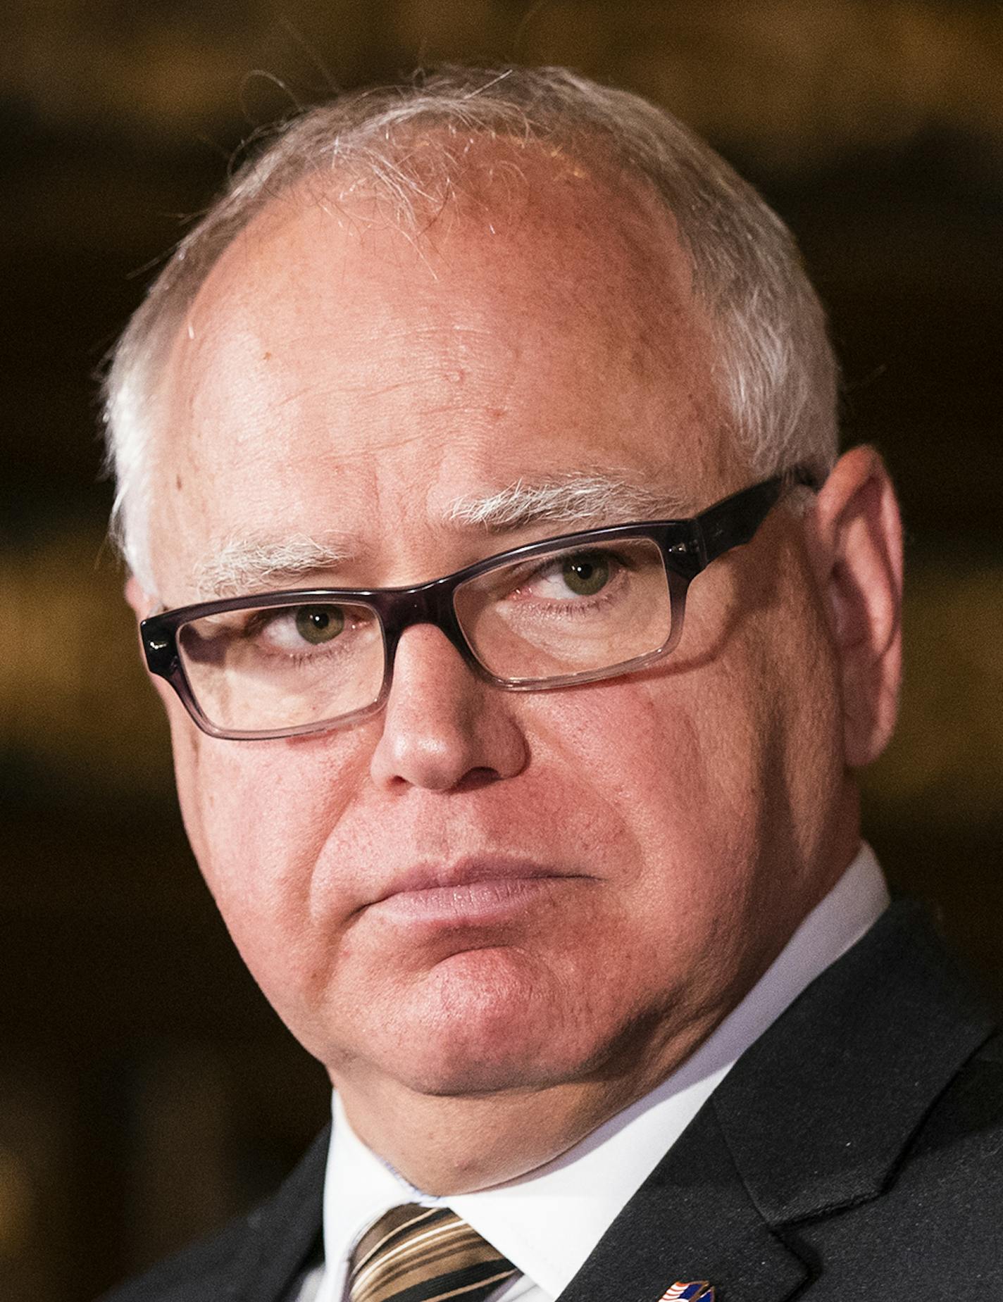
[[[399,926],[477,927],[525,913],[581,872],[525,859],[466,858],[422,863],[403,874],[367,911]]]

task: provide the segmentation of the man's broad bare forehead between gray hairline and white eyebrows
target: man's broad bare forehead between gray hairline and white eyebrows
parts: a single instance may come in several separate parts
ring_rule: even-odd
[[[164,370],[162,556],[318,527],[371,551],[535,477],[729,483],[670,215],[558,151],[482,148],[413,223],[311,178],[227,249]]]

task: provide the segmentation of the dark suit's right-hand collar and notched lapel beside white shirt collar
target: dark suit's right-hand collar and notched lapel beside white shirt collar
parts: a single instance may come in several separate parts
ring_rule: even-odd
[[[560,1302],[658,1302],[676,1280],[792,1297],[819,1264],[784,1225],[878,1197],[991,1029],[922,910],[892,905],[732,1068]]]

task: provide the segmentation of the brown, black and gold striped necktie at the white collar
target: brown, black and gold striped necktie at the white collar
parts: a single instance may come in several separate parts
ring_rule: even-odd
[[[392,1207],[358,1241],[349,1302],[485,1302],[515,1266],[445,1207]]]

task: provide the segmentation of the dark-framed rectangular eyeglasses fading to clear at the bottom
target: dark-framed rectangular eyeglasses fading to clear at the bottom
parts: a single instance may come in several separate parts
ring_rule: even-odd
[[[139,625],[151,673],[198,727],[234,740],[344,728],[379,710],[413,624],[434,624],[481,678],[534,691],[633,673],[677,644],[686,589],[748,543],[804,466],[692,519],[516,547],[414,587],[310,589],[184,605]]]

